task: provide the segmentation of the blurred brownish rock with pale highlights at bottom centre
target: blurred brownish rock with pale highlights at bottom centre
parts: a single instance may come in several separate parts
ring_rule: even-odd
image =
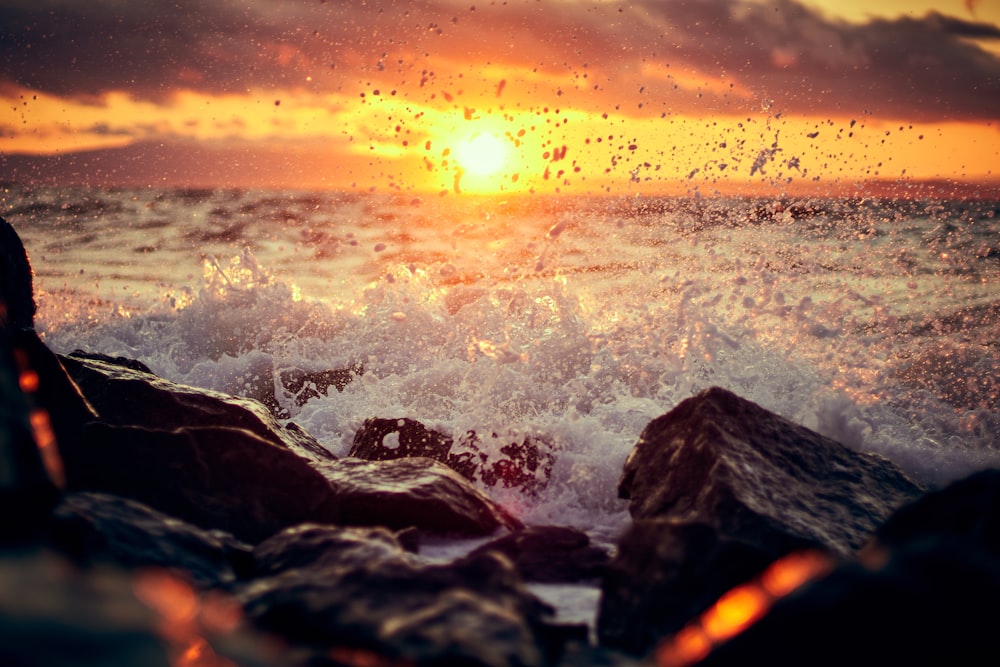
[[[422,565],[384,536],[370,548],[348,550],[346,558],[285,569],[247,586],[240,595],[247,615],[323,655],[337,647],[417,665],[548,664],[548,644],[559,637],[548,625],[552,610],[501,556]]]

